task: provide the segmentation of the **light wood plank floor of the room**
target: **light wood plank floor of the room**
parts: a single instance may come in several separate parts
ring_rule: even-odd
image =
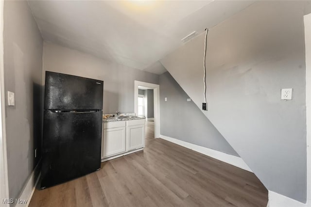
[[[250,172],[154,139],[143,151],[102,163],[102,169],[45,190],[30,207],[266,207],[268,192]]]

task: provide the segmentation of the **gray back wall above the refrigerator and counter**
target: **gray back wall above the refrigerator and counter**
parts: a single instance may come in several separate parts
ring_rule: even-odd
[[[47,42],[43,47],[43,77],[45,71],[104,80],[104,113],[134,112],[134,80],[159,81],[159,75]]]

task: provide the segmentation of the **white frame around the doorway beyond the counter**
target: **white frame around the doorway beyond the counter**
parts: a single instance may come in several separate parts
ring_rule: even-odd
[[[134,80],[134,111],[138,114],[138,86],[154,89],[155,138],[160,137],[160,85]]]

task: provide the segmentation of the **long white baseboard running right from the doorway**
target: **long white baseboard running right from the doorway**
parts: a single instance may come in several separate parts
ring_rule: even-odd
[[[247,170],[249,172],[253,172],[248,166],[247,164],[243,161],[242,158],[234,156],[234,155],[229,155],[226,154],[224,152],[219,152],[217,150],[214,149],[210,149],[207,147],[203,147],[203,146],[199,146],[196,144],[192,144],[192,143],[187,143],[181,140],[177,140],[175,138],[172,137],[168,137],[168,136],[164,136],[164,135],[160,135],[160,138],[167,140],[169,142],[184,146],[186,148],[192,149],[193,151],[202,153],[204,155],[207,155],[209,157],[221,160],[223,162],[226,162],[228,164],[234,165],[236,167],[242,168],[243,170]]]

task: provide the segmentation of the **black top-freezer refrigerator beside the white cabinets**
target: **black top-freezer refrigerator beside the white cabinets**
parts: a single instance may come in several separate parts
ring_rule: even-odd
[[[41,189],[101,168],[103,85],[46,72]]]

